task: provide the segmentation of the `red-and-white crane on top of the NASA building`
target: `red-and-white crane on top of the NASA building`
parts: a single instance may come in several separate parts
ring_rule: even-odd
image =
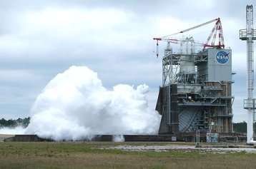
[[[157,57],[159,56],[159,43],[158,43],[158,41],[168,41],[170,43],[179,43],[179,40],[171,39],[169,37],[177,35],[177,34],[182,34],[184,32],[191,31],[193,29],[197,29],[197,28],[199,28],[201,26],[205,26],[205,25],[210,24],[210,23],[212,23],[214,21],[216,21],[215,26],[212,28],[212,31],[211,31],[210,35],[208,36],[208,38],[207,38],[207,41],[205,43],[202,43],[203,49],[205,49],[206,47],[210,47],[210,48],[225,48],[224,38],[223,38],[223,34],[222,34],[222,24],[221,24],[220,18],[217,18],[217,19],[212,19],[211,21],[207,21],[207,22],[205,22],[203,24],[194,26],[192,28],[185,29],[183,31],[179,31],[179,32],[177,32],[175,34],[170,34],[170,35],[167,35],[167,36],[162,36],[160,38],[154,38],[153,40],[157,41]],[[218,32],[219,41],[215,45],[215,40],[216,40],[217,32]],[[212,42],[210,43],[211,39],[212,39]]]

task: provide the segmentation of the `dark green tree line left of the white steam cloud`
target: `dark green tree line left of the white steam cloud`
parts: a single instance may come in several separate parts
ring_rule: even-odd
[[[27,126],[29,126],[29,122],[30,122],[30,117],[28,118],[18,118],[16,120],[5,120],[4,118],[1,118],[0,120],[0,128],[15,128],[17,126],[22,126],[24,128],[26,128]]]

